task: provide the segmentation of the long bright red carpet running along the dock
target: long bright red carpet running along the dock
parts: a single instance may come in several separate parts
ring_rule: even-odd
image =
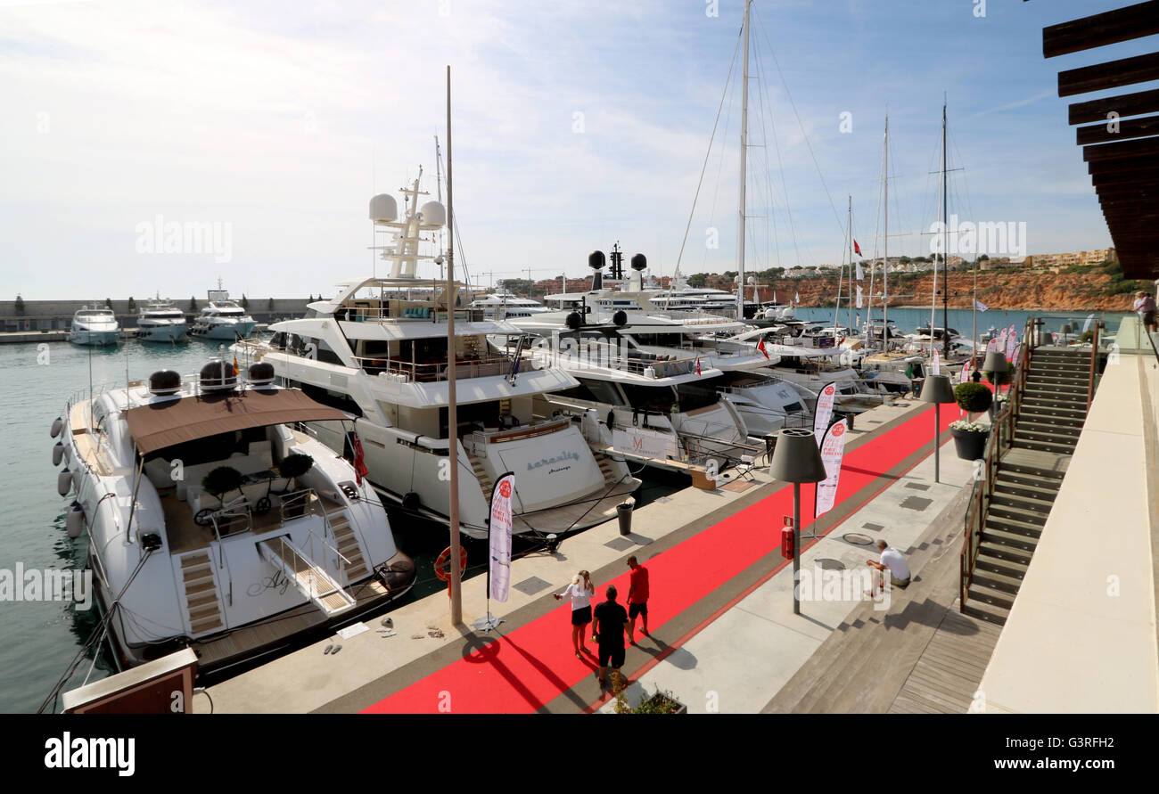
[[[932,406],[931,406],[932,408]],[[956,410],[941,411],[945,430]],[[904,424],[850,451],[841,466],[837,504],[845,505],[859,490],[902,462],[933,438],[933,414],[924,410]],[[888,487],[888,482],[881,488]],[[801,522],[812,520],[812,487],[801,487]],[[876,493],[876,491],[875,491]],[[865,495],[854,509],[874,494]],[[793,513],[793,487],[786,486],[684,542],[646,560],[650,571],[649,628],[663,625],[745,568],[780,546],[781,517]],[[888,538],[888,534],[887,534]],[[644,549],[647,554],[647,548]],[[583,566],[576,561],[576,568]],[[628,591],[627,566],[613,582],[620,603]],[[608,582],[595,582],[603,600]],[[474,651],[420,682],[366,708],[366,714],[530,713],[592,676],[595,658],[581,662],[571,648],[570,605],[500,636],[483,651]],[[639,631],[639,624],[637,624]],[[595,643],[588,640],[589,648]],[[625,668],[629,677],[633,670]]]

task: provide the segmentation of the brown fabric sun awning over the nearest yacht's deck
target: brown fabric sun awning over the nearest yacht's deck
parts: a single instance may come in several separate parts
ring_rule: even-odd
[[[315,402],[293,389],[188,396],[125,411],[129,432],[141,454],[220,432],[287,422],[345,418],[350,417],[344,411]]]

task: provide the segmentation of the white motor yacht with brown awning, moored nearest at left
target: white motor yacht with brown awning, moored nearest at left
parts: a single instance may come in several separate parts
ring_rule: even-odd
[[[86,392],[53,423],[58,490],[75,491],[66,525],[88,527],[119,666],[192,646],[202,672],[221,670],[414,582],[369,483],[301,429],[349,417],[272,380],[218,359]]]

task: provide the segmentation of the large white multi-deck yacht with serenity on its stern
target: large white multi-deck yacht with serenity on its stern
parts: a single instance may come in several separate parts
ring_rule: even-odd
[[[371,199],[377,228],[395,235],[382,257],[385,278],[338,285],[307,316],[271,326],[268,343],[234,350],[272,364],[277,376],[315,399],[358,416],[370,480],[407,512],[446,523],[450,513],[450,444],[459,460],[459,520],[483,538],[494,483],[515,474],[517,533],[560,533],[603,523],[636,489],[622,459],[595,454],[577,422],[535,411],[547,392],[571,388],[574,378],[520,355],[524,333],[483,308],[454,309],[454,349],[447,344],[447,284],[415,276],[420,235],[445,223],[442,204],[418,207],[418,180],[406,189],[399,220],[389,195]],[[454,285],[455,297],[461,285]],[[430,297],[416,299],[418,292]],[[452,298],[454,304],[454,298]],[[511,351],[488,337],[511,342]],[[458,425],[449,425],[449,367],[454,366]],[[320,439],[342,450],[334,422],[316,422]]]

